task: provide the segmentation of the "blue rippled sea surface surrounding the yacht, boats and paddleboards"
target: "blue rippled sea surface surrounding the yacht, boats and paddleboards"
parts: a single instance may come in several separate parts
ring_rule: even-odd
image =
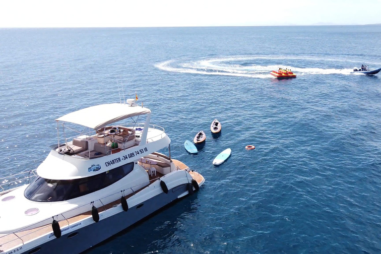
[[[56,118],[136,92],[205,184],[86,254],[381,253],[381,73],[350,73],[380,43],[380,25],[0,29],[0,176],[38,167]]]

